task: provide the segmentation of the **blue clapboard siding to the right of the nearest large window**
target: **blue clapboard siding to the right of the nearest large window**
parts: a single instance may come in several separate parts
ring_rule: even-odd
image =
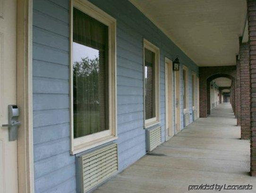
[[[165,140],[164,57],[174,59],[179,55],[180,62],[185,63],[195,73],[198,73],[198,67],[128,0],[90,1],[117,19],[118,145],[119,170],[122,170],[145,155],[143,38],[160,48],[162,142]]]

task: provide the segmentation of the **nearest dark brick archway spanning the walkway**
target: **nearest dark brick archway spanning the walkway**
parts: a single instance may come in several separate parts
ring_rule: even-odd
[[[199,67],[200,117],[207,117],[207,109],[210,114],[210,102],[207,102],[210,101],[210,82],[219,77],[230,78],[235,83],[236,66]]]

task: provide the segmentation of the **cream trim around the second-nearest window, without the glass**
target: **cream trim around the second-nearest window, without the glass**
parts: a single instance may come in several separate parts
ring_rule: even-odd
[[[155,117],[145,119],[145,48],[155,53]],[[143,82],[144,82],[144,128],[160,123],[160,82],[159,82],[160,50],[153,43],[143,39]]]

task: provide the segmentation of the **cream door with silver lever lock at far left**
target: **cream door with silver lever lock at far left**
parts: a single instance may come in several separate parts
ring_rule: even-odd
[[[0,0],[0,193],[17,193],[17,140],[9,141],[8,105],[16,104],[16,0]],[[24,176],[25,177],[25,176]]]

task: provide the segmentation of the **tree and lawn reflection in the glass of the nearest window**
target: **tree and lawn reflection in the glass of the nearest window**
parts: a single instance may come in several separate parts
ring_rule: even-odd
[[[102,70],[102,69],[101,69]],[[100,130],[99,58],[81,58],[73,64],[74,136]]]

